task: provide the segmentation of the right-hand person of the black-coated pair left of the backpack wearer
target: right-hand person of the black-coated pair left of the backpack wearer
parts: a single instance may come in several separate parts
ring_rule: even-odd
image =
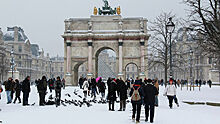
[[[126,100],[128,99],[127,96],[128,88],[122,79],[120,79],[119,82],[120,82],[120,87],[119,87],[120,109],[118,111],[122,111],[122,110],[125,111]]]

